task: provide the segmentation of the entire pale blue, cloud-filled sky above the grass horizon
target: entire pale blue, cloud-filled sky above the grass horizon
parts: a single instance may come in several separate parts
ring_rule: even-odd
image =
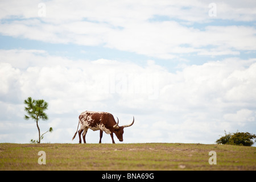
[[[121,125],[134,115],[127,143],[214,143],[224,130],[256,133],[254,1],[0,7],[0,142],[36,139],[35,123],[23,119],[30,96],[49,103],[49,121],[39,126],[54,131],[44,142],[71,143],[85,110],[109,111]],[[86,138],[97,143],[98,132]]]

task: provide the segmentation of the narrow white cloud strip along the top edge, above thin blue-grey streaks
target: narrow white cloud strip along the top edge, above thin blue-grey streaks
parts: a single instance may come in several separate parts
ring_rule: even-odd
[[[11,15],[22,18],[38,16],[42,1],[1,1],[0,18]],[[209,2],[205,1],[46,1],[46,17],[52,22],[63,20],[90,20],[110,22],[112,24],[127,23],[131,20],[146,20],[154,15],[164,15],[191,22],[209,21]],[[244,1],[214,1],[217,6],[217,17],[220,19],[255,20],[255,3]]]

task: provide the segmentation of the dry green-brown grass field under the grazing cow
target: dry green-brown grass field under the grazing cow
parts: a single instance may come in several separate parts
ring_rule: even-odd
[[[38,164],[39,151],[46,165]],[[217,164],[210,165],[209,151]],[[256,147],[185,143],[0,143],[0,170],[256,170]]]

